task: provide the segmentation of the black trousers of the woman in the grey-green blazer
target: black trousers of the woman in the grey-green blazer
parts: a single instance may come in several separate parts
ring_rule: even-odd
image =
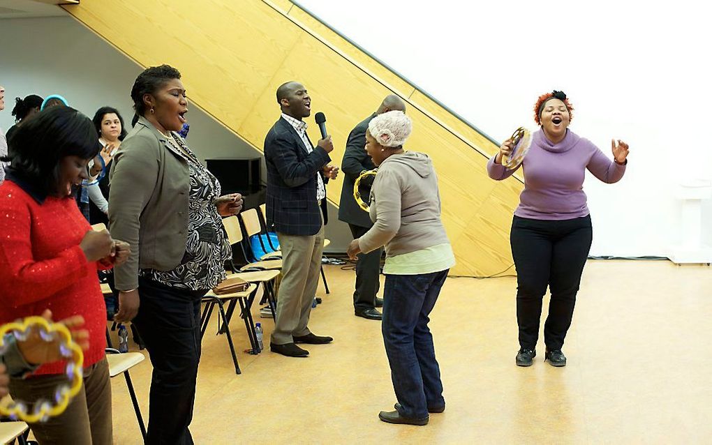
[[[207,290],[185,290],[139,278],[141,305],[134,318],[151,357],[147,444],[193,444],[200,362],[200,300]]]

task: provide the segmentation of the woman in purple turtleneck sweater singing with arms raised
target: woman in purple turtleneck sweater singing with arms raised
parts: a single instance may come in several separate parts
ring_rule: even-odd
[[[561,91],[541,95],[534,120],[541,129],[523,160],[524,190],[514,211],[512,256],[517,268],[518,366],[536,357],[541,307],[546,288],[551,300],[544,325],[545,360],[565,366],[561,352],[576,302],[581,273],[591,248],[591,216],[582,184],[588,169],[603,182],[618,182],[625,172],[628,145],[611,141],[611,161],[590,140],[568,129],[573,107]],[[517,169],[502,165],[512,151],[505,141],[487,164],[492,179],[501,181]]]

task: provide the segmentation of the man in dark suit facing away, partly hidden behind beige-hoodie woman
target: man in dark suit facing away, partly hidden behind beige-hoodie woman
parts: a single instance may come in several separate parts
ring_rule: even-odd
[[[346,142],[344,159],[341,168],[345,174],[341,188],[339,204],[339,219],[349,224],[354,239],[363,236],[373,226],[368,212],[363,211],[353,198],[354,182],[362,172],[375,169],[376,166],[366,153],[366,130],[368,123],[377,115],[392,111],[405,111],[405,103],[397,95],[387,96],[375,113],[362,120],[351,130]],[[370,195],[372,180],[368,183],[366,178],[361,182],[361,196]],[[367,254],[360,253],[356,263],[356,290],[354,291],[354,313],[358,317],[369,320],[380,320],[381,313],[376,309],[383,305],[383,300],[377,298],[379,289],[379,273],[381,254],[383,249],[378,248]]]

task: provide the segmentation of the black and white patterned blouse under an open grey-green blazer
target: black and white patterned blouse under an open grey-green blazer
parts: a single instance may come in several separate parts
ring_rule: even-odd
[[[166,286],[189,290],[211,289],[226,278],[224,264],[232,256],[222,218],[214,204],[220,196],[220,182],[180,137],[171,135],[169,145],[177,155],[188,161],[190,171],[188,240],[179,266],[165,272],[144,269],[141,275]],[[174,145],[181,147],[189,156]]]

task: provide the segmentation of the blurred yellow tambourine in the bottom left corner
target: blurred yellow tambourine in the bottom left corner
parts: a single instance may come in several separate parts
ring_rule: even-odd
[[[67,362],[67,384],[61,384],[54,392],[54,403],[40,399],[33,404],[32,409],[21,400],[11,401],[9,397],[0,401],[0,414],[13,420],[27,423],[44,422],[50,417],[56,417],[64,412],[70,400],[82,388],[84,354],[81,347],[72,340],[72,335],[65,325],[50,323],[42,317],[28,317],[21,322],[7,323],[0,326],[0,352],[5,348],[5,335],[11,333],[17,340],[24,340],[31,334],[30,330],[37,328],[42,340],[53,342],[59,340],[59,350]]]

